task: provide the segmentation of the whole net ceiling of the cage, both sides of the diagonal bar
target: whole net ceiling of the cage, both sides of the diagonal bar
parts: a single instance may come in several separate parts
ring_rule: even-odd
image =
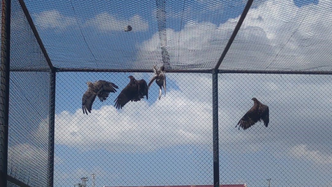
[[[212,69],[245,0],[25,0],[56,68]],[[332,71],[332,2],[257,0],[219,69]],[[131,31],[125,32],[127,25]]]

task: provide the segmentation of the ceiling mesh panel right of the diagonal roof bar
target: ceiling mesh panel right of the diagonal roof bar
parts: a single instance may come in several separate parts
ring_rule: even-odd
[[[220,69],[332,71],[331,10],[315,0],[252,7]]]

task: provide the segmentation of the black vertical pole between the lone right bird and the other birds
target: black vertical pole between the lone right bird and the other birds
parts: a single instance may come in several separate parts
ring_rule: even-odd
[[[213,186],[219,187],[218,71],[212,73]]]

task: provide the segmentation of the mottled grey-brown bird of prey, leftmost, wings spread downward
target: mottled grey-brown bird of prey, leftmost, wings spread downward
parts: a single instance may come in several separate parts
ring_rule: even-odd
[[[91,113],[92,104],[95,101],[96,96],[98,96],[99,100],[103,102],[107,99],[111,92],[115,93],[117,92],[115,89],[119,88],[114,83],[104,80],[95,81],[94,83],[88,81],[86,84],[88,85],[88,89],[85,91],[82,97],[82,110],[83,113],[86,113],[87,115],[87,111]]]

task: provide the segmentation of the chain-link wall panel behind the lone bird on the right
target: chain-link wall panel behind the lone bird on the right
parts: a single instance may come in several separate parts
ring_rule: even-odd
[[[331,186],[331,76],[219,75],[219,160],[222,183]],[[269,106],[270,122],[235,125],[253,106]]]

